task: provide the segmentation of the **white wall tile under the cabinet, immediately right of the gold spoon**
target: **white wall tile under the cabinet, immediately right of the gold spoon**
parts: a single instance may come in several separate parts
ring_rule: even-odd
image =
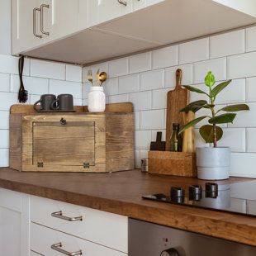
[[[108,73],[110,78],[115,78],[128,73],[128,58],[111,60],[108,63]]]

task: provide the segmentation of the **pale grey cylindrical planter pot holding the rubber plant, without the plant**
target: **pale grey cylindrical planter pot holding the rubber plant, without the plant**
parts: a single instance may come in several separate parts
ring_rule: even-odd
[[[230,148],[197,148],[197,178],[219,180],[230,177]]]

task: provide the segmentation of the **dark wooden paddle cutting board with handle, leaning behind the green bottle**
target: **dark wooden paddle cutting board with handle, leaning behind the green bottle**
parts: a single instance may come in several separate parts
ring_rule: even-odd
[[[184,125],[184,115],[180,113],[189,101],[189,91],[182,88],[182,69],[176,70],[176,87],[167,94],[167,113],[166,113],[166,146],[165,150],[170,150],[170,137],[173,132],[173,123]]]

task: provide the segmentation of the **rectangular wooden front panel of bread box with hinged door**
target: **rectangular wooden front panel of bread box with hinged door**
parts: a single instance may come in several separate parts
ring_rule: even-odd
[[[105,116],[23,116],[22,123],[22,171],[106,171]]]

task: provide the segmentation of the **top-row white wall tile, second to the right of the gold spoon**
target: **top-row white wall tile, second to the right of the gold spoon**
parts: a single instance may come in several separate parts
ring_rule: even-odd
[[[151,69],[151,52],[129,57],[129,73],[139,73]]]

